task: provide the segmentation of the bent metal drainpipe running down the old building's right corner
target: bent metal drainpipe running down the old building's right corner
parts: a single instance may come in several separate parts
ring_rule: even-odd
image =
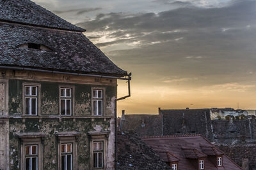
[[[116,103],[117,101],[120,101],[120,100],[124,100],[126,99],[127,97],[130,97],[131,96],[131,86],[130,86],[130,81],[131,81],[131,75],[132,73],[129,73],[128,74],[128,95],[127,96],[124,96],[124,97],[120,97],[118,99],[115,99],[115,169],[117,170],[117,111],[116,111]]]

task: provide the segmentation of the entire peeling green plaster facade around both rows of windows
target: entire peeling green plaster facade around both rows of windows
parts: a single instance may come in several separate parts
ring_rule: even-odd
[[[22,83],[40,83],[40,115],[58,116],[59,114],[59,88],[60,85],[74,87],[74,113],[79,118],[25,118],[22,121]],[[92,117],[91,97],[92,87],[105,89],[104,117]],[[115,111],[116,86],[84,85],[76,83],[58,83],[49,81],[9,80],[9,115],[15,118],[9,120],[10,135],[10,169],[20,169],[20,140],[17,133],[43,132],[44,140],[44,169],[57,169],[57,139],[56,132],[76,131],[81,136],[77,141],[77,169],[90,169],[90,140],[89,131],[113,131],[111,118]],[[84,118],[83,118],[84,117]],[[87,117],[87,118],[86,118]],[[106,118],[108,117],[108,118]],[[112,125],[113,126],[113,125]],[[109,139],[113,136],[109,136]],[[110,141],[110,140],[109,140]],[[115,145],[115,143],[108,143]],[[113,151],[111,151],[111,154]],[[113,154],[114,156],[115,154]]]

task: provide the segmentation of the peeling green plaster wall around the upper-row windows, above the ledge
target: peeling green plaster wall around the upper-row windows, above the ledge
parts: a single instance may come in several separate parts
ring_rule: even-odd
[[[104,116],[113,116],[116,96],[115,86],[82,85],[73,83],[56,83],[46,81],[9,80],[9,114],[22,113],[22,83],[40,83],[41,85],[41,115],[59,115],[59,86],[74,86],[74,115],[90,116],[92,87],[105,88]]]

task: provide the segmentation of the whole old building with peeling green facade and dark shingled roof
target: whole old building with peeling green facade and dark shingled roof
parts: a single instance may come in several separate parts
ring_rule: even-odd
[[[0,169],[115,169],[116,80],[131,78],[84,31],[0,0]]]

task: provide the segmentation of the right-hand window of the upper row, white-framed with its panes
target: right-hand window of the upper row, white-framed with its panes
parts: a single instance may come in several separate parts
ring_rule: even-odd
[[[102,115],[103,90],[93,90],[93,115]]]

